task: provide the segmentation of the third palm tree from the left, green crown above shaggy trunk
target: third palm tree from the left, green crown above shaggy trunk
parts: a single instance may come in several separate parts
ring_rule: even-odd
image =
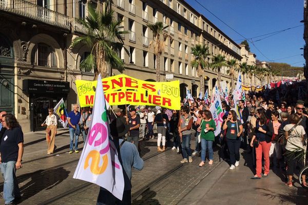
[[[195,59],[191,60],[190,64],[192,67],[197,68],[197,74],[200,78],[200,86],[201,86],[200,92],[204,94],[205,92],[204,92],[203,73],[207,64],[205,59],[209,55],[208,46],[205,46],[204,44],[203,45],[198,44],[195,47],[191,48],[191,54],[195,56]]]

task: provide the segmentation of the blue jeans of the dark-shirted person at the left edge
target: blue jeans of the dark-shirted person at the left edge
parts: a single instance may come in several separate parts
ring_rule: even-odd
[[[2,162],[0,169],[4,177],[3,198],[5,203],[11,203],[15,198],[21,197],[21,192],[16,180],[16,161]]]

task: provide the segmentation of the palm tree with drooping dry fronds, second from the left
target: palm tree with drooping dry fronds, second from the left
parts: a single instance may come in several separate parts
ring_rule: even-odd
[[[153,32],[153,40],[151,40],[149,48],[154,44],[154,54],[156,55],[156,81],[160,82],[160,56],[164,51],[164,40],[168,37],[163,31],[168,28],[168,26],[164,26],[162,22],[147,24],[146,26]],[[164,40],[160,38],[162,34]]]

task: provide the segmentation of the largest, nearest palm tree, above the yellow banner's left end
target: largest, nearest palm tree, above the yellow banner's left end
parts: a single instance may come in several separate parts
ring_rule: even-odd
[[[78,22],[86,28],[87,34],[74,38],[71,47],[82,45],[91,48],[90,54],[81,62],[81,68],[88,72],[93,69],[94,79],[99,73],[103,78],[107,76],[107,64],[122,72],[124,63],[117,52],[124,45],[121,34],[128,32],[120,31],[121,21],[114,19],[114,11],[109,4],[103,4],[101,11],[89,6],[86,19],[78,19]]]

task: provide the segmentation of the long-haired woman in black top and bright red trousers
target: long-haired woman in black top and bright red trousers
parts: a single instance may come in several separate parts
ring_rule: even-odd
[[[251,147],[255,146],[256,148],[256,174],[251,179],[261,178],[262,154],[264,157],[264,174],[262,177],[267,177],[269,173],[269,149],[271,149],[273,134],[272,121],[266,118],[264,109],[258,109],[256,130],[251,141]]]

